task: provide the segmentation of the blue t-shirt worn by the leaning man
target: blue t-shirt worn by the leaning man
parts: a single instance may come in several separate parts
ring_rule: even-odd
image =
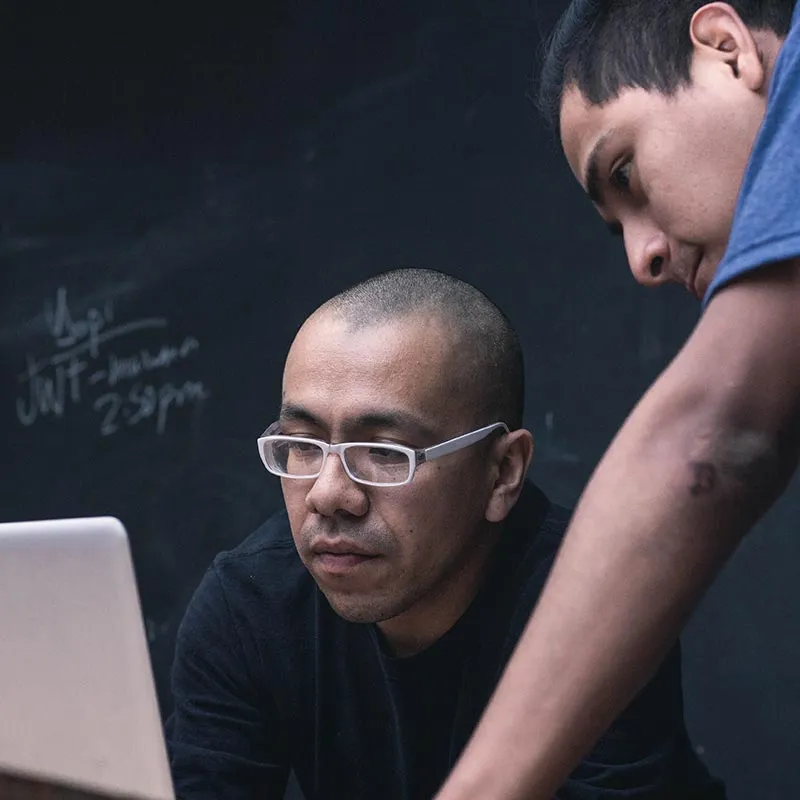
[[[703,305],[734,278],[800,256],[800,4],[775,63],[728,248]]]

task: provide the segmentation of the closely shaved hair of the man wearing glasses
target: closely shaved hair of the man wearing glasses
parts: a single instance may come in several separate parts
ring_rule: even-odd
[[[356,329],[411,315],[442,321],[455,333],[468,367],[465,392],[486,424],[522,425],[525,368],[522,347],[506,315],[479,289],[443,272],[395,269],[357,283],[325,303]]]

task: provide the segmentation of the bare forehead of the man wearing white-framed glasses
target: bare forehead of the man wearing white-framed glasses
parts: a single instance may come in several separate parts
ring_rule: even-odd
[[[458,406],[457,349],[456,333],[430,318],[354,327],[331,314],[312,317],[289,351],[283,403],[331,425],[380,409],[435,424]]]

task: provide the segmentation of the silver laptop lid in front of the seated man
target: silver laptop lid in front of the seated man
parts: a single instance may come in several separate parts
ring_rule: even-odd
[[[0,524],[0,773],[174,798],[117,519]]]

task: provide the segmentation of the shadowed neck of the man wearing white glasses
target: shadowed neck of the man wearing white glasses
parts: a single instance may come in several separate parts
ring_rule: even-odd
[[[416,655],[444,636],[475,598],[500,537],[500,525],[484,528],[465,559],[455,562],[439,583],[411,608],[378,623],[392,655]]]

